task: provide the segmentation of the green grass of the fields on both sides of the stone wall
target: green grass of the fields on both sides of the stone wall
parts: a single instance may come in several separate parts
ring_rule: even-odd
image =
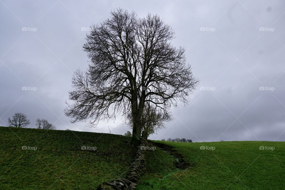
[[[96,189],[124,177],[135,151],[129,140],[114,134],[0,127],[0,189]],[[159,148],[149,150],[138,190],[285,189],[284,142],[154,142],[171,145],[191,166],[177,169],[175,157]],[[82,146],[99,153],[77,150]]]

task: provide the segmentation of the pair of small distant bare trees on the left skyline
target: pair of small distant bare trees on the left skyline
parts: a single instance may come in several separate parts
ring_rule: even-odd
[[[15,113],[12,118],[8,118],[9,127],[27,127],[30,124],[30,120],[27,115],[23,113]],[[46,119],[37,119],[36,121],[37,129],[56,129],[56,126],[49,123]]]

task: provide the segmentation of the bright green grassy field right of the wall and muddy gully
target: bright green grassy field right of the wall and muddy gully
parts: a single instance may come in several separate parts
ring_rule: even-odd
[[[147,174],[139,190],[285,189],[285,142],[155,142],[173,146],[192,166],[170,172],[165,178]],[[201,150],[201,146],[205,149]],[[260,146],[274,150],[260,150]]]

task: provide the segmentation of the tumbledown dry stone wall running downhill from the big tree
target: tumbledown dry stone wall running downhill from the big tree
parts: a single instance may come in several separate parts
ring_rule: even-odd
[[[148,146],[147,133],[143,131],[141,144],[137,148],[137,155],[132,163],[126,178],[118,178],[112,182],[104,182],[99,185],[97,190],[131,190],[135,189],[140,177],[145,171],[145,151]]]

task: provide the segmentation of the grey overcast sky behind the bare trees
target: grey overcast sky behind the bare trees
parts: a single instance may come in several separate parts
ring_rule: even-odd
[[[116,8],[158,14],[186,48],[200,85],[188,105],[150,139],[285,140],[285,1],[7,1],[0,0],[0,126],[15,112],[57,129],[124,134],[121,119],[71,124],[71,77],[85,70],[86,32]],[[27,90],[25,90],[27,87]],[[29,87],[29,88],[28,88]]]

